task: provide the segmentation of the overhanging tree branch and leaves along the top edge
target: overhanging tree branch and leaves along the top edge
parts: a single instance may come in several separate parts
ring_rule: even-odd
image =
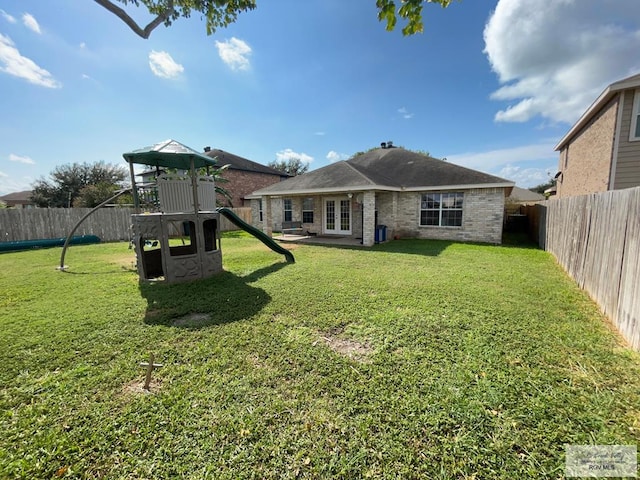
[[[206,20],[207,35],[218,28],[234,23],[238,14],[257,7],[256,0],[94,0],[122,20],[136,35],[149,38],[151,32],[160,24],[170,26],[180,17],[188,18],[193,13],[200,13]],[[398,17],[406,21],[402,28],[403,35],[414,35],[424,31],[422,7],[424,3],[436,3],[447,7],[451,0],[376,0],[378,20],[387,23],[386,29],[395,28]],[[145,27],[141,27],[118,4],[144,6],[155,18]]]

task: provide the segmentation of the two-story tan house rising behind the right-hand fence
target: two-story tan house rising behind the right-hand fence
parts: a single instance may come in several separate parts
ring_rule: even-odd
[[[609,85],[555,149],[558,198],[640,186],[640,74]]]

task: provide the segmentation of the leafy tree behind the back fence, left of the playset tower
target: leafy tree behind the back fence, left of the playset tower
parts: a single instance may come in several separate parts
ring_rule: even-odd
[[[50,179],[36,180],[32,186],[31,197],[39,207],[70,207],[80,197],[83,188],[103,184],[112,186],[108,195],[104,185],[100,187],[105,196],[96,197],[99,199],[97,205],[113,195],[113,190],[121,188],[128,174],[124,167],[98,162],[57,166],[49,176]],[[92,195],[94,193],[92,191]]]

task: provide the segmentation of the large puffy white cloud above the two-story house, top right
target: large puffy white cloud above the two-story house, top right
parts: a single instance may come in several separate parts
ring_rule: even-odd
[[[610,83],[640,70],[640,10],[625,0],[499,0],[484,30],[511,102],[499,122],[573,123]]]

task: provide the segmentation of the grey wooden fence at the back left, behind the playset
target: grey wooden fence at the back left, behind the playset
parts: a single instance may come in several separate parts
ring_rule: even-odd
[[[0,241],[39,240],[66,237],[89,208],[0,209]],[[236,215],[251,223],[251,208],[233,208]],[[133,208],[101,208],[80,225],[75,235],[97,235],[103,242],[131,238]],[[225,217],[220,217],[220,230],[237,230]]]

